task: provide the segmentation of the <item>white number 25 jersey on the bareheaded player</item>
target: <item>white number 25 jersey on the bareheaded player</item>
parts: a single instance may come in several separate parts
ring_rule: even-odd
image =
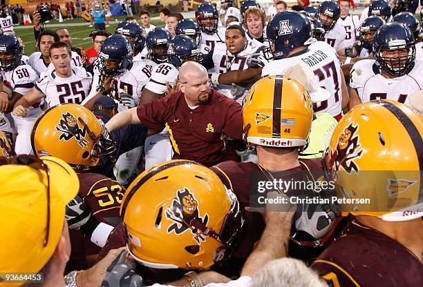
[[[56,70],[41,75],[35,88],[46,96],[48,107],[59,103],[82,103],[90,92],[93,78],[82,67],[72,67],[71,77],[61,78]]]

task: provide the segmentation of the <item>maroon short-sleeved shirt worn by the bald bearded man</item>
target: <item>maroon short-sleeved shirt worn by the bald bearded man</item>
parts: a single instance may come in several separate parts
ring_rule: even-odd
[[[205,166],[237,159],[224,137],[242,138],[242,107],[216,90],[210,90],[209,100],[194,110],[179,91],[139,106],[137,113],[147,128],[169,129],[174,159],[191,159]]]

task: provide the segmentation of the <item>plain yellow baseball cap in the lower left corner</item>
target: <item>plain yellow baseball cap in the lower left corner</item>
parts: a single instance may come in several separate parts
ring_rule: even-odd
[[[36,164],[0,166],[0,273],[37,273],[46,265],[62,235],[66,204],[79,190],[78,177],[66,162],[40,159],[48,166],[48,175]]]

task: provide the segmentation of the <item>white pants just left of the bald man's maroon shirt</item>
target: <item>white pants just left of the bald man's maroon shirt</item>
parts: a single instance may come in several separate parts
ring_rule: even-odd
[[[145,139],[145,170],[172,159],[173,150],[169,138],[169,131],[165,128],[162,132]]]

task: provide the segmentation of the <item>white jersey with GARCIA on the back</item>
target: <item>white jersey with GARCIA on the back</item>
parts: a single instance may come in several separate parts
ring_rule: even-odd
[[[294,57],[267,63],[263,67],[261,75],[280,75],[281,67],[291,66],[299,61],[306,63],[314,75],[319,78],[321,86],[330,92],[329,99],[314,106],[314,112],[327,112],[333,117],[339,116],[342,105],[342,80],[341,66],[339,66],[336,51],[328,43],[316,41],[310,44],[308,49],[298,54]]]

